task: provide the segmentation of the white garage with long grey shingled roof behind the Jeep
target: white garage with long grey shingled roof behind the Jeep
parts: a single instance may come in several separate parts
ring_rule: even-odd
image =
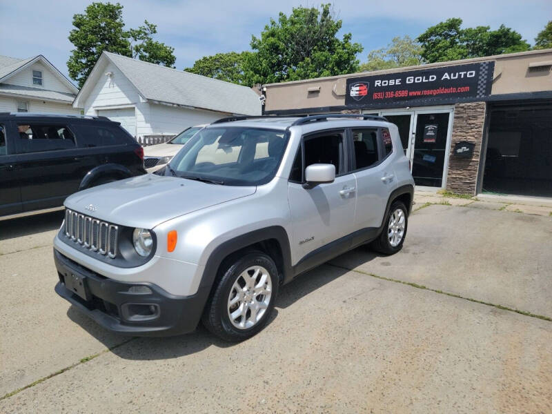
[[[73,102],[142,143],[231,115],[261,115],[251,88],[103,52]]]

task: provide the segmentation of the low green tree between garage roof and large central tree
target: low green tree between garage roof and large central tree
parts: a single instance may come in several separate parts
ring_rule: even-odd
[[[227,81],[238,85],[253,86],[248,82],[244,74],[244,60],[251,52],[217,53],[213,56],[205,56],[195,61],[194,66],[185,68],[186,72],[197,73]]]

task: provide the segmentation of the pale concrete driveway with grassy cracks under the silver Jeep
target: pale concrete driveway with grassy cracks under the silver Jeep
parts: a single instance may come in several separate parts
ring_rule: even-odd
[[[53,292],[61,214],[0,221],[0,412],[552,412],[552,217],[415,208],[401,253],[299,277],[241,344],[104,331]]]

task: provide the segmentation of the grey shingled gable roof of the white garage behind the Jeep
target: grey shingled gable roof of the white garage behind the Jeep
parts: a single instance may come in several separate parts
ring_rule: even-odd
[[[88,95],[92,90],[92,83],[96,79],[94,72],[100,70],[99,63],[102,59],[108,59],[117,66],[141,97],[148,101],[239,115],[261,114],[259,95],[247,86],[166,68],[110,52],[102,53],[81,92],[75,98],[73,106],[82,99],[81,95]]]

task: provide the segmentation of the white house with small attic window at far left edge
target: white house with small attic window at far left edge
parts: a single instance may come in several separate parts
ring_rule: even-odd
[[[42,55],[0,56],[0,112],[78,114],[79,89]]]

